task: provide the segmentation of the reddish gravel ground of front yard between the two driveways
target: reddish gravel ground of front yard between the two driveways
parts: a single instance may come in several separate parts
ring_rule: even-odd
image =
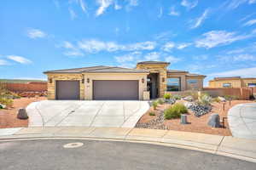
[[[183,100],[177,100],[177,103],[183,103]],[[177,130],[177,131],[185,131],[185,132],[193,132],[193,133],[209,133],[209,134],[218,134],[224,136],[230,136],[230,129],[227,122],[227,119],[224,121],[223,127],[210,127],[207,125],[209,116],[212,113],[218,113],[220,116],[220,120],[223,117],[227,117],[228,111],[234,105],[243,104],[243,103],[252,103],[253,101],[250,100],[233,100],[231,101],[231,105],[229,102],[212,102],[212,111],[209,113],[197,117],[194,115],[192,111],[188,111],[187,113],[187,120],[188,124],[181,124],[180,118],[166,120],[161,118],[160,116],[163,115],[163,112],[170,107],[170,104],[162,104],[158,105],[157,108],[154,110],[153,106],[150,110],[145,113],[139,122],[137,122],[137,127],[144,127],[144,128],[156,128],[156,129],[168,129],[168,130]],[[225,103],[225,109],[223,110],[223,103]],[[154,114],[155,116],[154,116]],[[223,124],[222,124],[223,125]]]

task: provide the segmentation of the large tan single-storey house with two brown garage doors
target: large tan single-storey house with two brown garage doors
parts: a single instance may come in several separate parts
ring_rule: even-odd
[[[154,99],[168,91],[203,88],[205,76],[167,70],[168,65],[144,61],[135,69],[101,65],[45,71],[48,99]]]

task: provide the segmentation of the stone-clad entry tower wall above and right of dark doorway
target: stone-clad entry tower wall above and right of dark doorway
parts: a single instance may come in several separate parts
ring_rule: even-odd
[[[159,73],[159,79],[158,79],[158,87],[159,87],[159,95],[160,97],[163,97],[166,88],[167,88],[167,67],[168,65],[163,65],[163,64],[138,64],[137,69],[146,69],[150,71],[150,73]],[[165,80],[164,82],[162,80]]]

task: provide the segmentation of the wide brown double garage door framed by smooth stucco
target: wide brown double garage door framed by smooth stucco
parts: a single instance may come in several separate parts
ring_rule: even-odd
[[[95,80],[93,99],[138,99],[138,81]]]

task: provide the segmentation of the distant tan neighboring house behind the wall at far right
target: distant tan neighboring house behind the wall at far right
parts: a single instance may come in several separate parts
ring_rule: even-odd
[[[256,78],[215,77],[209,81],[210,88],[245,88],[256,87]]]

